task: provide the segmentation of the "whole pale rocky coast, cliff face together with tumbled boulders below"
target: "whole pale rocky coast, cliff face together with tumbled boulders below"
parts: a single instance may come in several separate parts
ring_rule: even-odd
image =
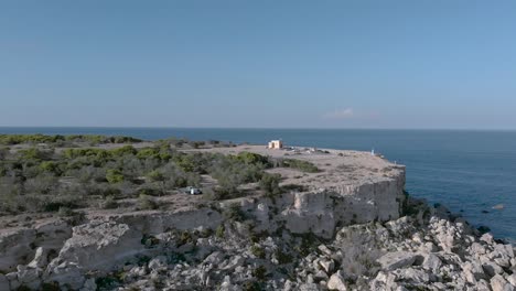
[[[410,197],[404,166],[329,154],[369,170],[326,170],[276,197],[2,229],[0,290],[515,290],[512,245]]]

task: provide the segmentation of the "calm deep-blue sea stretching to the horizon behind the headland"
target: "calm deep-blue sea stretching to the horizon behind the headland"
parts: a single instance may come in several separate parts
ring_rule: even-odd
[[[0,128],[0,133],[121,134],[154,140],[169,137],[290,146],[373,148],[407,165],[407,190],[447,205],[499,238],[516,240],[516,131],[180,129],[180,128]],[[503,209],[493,209],[503,204]],[[487,213],[483,213],[486,211]]]

